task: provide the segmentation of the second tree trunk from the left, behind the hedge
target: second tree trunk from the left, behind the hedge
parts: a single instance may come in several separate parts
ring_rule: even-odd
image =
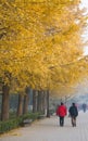
[[[23,115],[23,95],[18,94],[17,116]]]

